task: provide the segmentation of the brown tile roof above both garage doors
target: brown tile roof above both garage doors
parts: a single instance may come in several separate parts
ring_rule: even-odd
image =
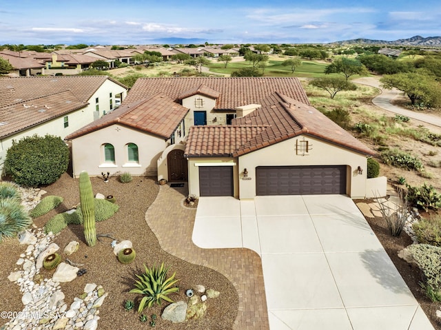
[[[233,143],[231,146],[219,149],[216,141],[222,136],[221,132],[225,129],[220,128],[216,131],[214,129],[206,130],[204,126],[194,126],[187,137],[185,155],[190,157],[218,156],[229,149],[231,150],[229,155],[236,157],[300,134],[314,136],[362,154],[374,154],[364,143],[358,141],[357,138],[310,105],[283,96],[278,92],[263,99],[260,104],[262,107],[247,116],[234,119],[232,123],[236,127],[250,127],[250,129],[265,126],[264,130],[260,130],[254,136],[249,136],[246,141],[245,138],[242,138],[241,145]],[[215,133],[218,136],[209,136],[209,134]],[[225,140],[225,143],[229,142]],[[205,145],[207,143],[211,143],[211,145]],[[207,154],[207,152],[211,152],[211,154]]]

